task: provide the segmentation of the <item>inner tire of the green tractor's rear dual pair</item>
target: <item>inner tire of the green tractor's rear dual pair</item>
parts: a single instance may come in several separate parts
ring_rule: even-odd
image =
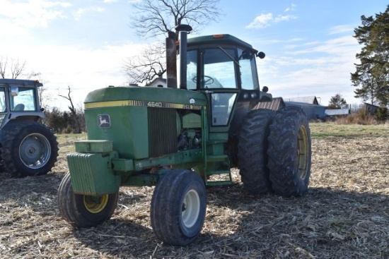
[[[247,114],[239,133],[238,158],[243,188],[255,194],[272,190],[267,169],[267,137],[276,112],[256,109]]]

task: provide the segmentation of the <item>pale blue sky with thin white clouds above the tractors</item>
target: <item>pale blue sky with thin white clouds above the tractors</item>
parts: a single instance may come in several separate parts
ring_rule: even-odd
[[[45,106],[65,110],[71,88],[81,109],[88,92],[126,85],[124,65],[163,37],[145,39],[131,27],[141,0],[0,0],[0,58],[40,73]],[[220,0],[221,16],[188,37],[228,33],[265,52],[260,85],[273,97],[336,94],[354,98],[350,73],[361,45],[353,37],[361,16],[385,11],[385,0]]]

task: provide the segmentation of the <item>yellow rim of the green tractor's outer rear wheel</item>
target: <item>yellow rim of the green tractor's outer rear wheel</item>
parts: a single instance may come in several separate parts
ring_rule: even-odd
[[[305,179],[308,173],[309,143],[306,127],[301,126],[297,135],[297,167],[300,179]]]

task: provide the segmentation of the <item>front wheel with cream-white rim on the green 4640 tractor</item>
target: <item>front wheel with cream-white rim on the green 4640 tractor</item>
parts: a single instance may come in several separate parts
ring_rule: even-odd
[[[207,197],[204,180],[194,171],[175,169],[161,176],[151,199],[151,226],[163,243],[186,246],[199,236]]]

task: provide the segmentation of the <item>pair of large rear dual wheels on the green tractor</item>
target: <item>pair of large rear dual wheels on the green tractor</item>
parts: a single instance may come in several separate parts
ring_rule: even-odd
[[[308,120],[302,109],[249,112],[240,128],[238,145],[243,187],[255,194],[303,195],[310,178],[310,145]]]

